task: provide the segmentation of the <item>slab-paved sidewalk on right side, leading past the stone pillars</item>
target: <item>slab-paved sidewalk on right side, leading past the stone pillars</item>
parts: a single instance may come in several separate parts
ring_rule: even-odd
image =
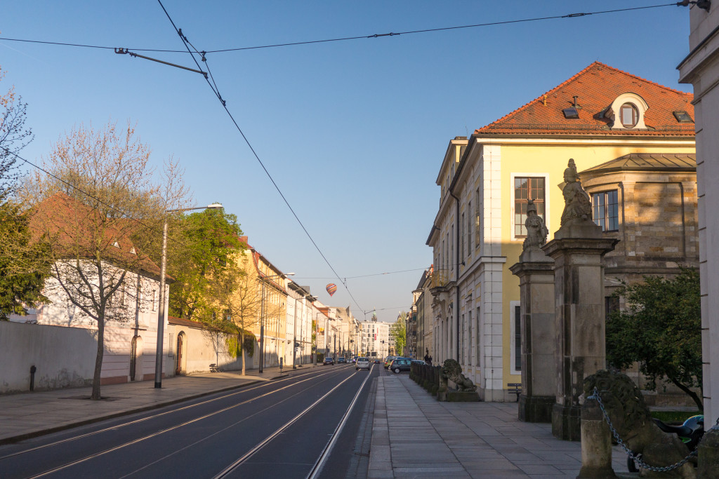
[[[517,419],[516,403],[436,401],[408,375],[377,378],[372,478],[576,478],[579,442]],[[626,471],[615,447],[613,468]]]

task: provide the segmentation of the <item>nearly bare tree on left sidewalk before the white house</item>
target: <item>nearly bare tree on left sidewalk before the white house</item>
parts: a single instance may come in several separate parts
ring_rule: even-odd
[[[55,144],[44,168],[19,194],[29,209],[35,243],[52,265],[48,297],[66,297],[98,328],[92,399],[101,399],[105,327],[132,320],[155,302],[160,269],[139,243],[161,236],[165,209],[186,201],[178,169],[174,183],[155,181],[150,150],[134,128],[80,126]],[[157,243],[157,241],[155,241]]]

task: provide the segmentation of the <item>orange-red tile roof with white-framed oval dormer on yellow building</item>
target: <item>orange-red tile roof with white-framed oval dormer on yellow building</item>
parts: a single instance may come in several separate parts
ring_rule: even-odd
[[[644,114],[648,129],[611,130],[610,118],[601,117],[600,113],[623,93],[636,93],[649,105]],[[574,104],[574,96],[581,107],[579,118],[564,118],[562,110]],[[673,114],[686,111],[693,119],[692,98],[691,93],[594,62],[544,95],[475,130],[475,134],[694,136],[694,123],[679,123]]]

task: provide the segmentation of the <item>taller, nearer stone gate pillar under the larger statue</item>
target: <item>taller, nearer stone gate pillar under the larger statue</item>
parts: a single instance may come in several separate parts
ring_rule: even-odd
[[[543,248],[554,259],[557,401],[551,432],[569,441],[580,440],[582,381],[606,368],[602,259],[618,240],[602,238],[600,228],[592,226],[596,231],[587,228],[584,237],[566,237],[560,228]]]

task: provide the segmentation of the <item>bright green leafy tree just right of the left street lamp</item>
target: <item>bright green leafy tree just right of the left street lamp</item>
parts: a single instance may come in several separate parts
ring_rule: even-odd
[[[224,271],[232,269],[234,255],[244,251],[237,216],[221,209],[178,215],[169,230],[175,239],[168,243],[168,274],[174,279],[170,315],[206,319],[228,294],[218,283],[224,281]],[[218,297],[220,292],[223,296]]]

